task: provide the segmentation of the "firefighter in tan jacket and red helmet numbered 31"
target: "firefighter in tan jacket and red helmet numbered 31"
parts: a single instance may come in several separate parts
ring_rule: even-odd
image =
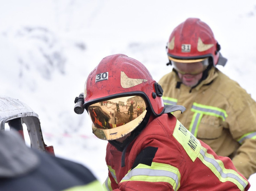
[[[167,56],[172,71],[159,81],[165,104],[181,104],[175,117],[218,155],[229,156],[246,178],[256,173],[256,103],[217,65],[227,59],[211,28],[188,18],[171,33]]]

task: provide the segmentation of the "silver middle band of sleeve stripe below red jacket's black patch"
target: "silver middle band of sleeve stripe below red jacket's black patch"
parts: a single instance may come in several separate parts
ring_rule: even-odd
[[[129,180],[135,176],[166,176],[172,178],[176,182],[176,188],[178,187],[179,180],[178,176],[175,173],[172,173],[167,170],[154,170],[154,169],[145,169],[145,168],[136,168],[132,169],[122,180]]]

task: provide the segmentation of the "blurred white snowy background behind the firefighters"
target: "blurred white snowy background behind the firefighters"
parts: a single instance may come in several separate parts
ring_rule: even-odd
[[[30,106],[55,154],[84,164],[104,181],[107,141],[91,132],[87,113],[73,112],[88,74],[102,58],[123,53],[159,81],[172,30],[198,17],[228,58],[223,68],[256,99],[256,1],[0,0],[1,95]],[[250,177],[256,189],[256,174]]]

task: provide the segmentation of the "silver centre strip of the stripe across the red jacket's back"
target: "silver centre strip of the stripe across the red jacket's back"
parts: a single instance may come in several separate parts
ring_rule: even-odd
[[[208,158],[206,155],[205,155],[205,151],[203,151],[202,149],[200,150],[200,154],[203,156],[203,159],[209,163],[211,163],[215,168],[216,170],[220,173],[221,177],[222,178],[233,178],[235,180],[237,180],[244,188],[247,186],[245,184],[245,182],[243,182],[240,177],[236,176],[235,174],[232,174],[232,173],[224,173],[221,166],[219,165],[219,163],[215,160],[215,159],[211,159],[211,158]]]

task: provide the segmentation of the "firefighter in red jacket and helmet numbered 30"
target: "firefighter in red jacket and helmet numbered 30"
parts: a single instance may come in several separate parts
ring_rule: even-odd
[[[171,114],[185,108],[164,105],[162,93],[147,68],[123,54],[103,58],[89,74],[83,108],[92,118],[93,133],[108,140],[106,189],[248,190],[250,184],[229,158],[216,155]],[[104,107],[101,101],[146,109],[130,121],[126,109],[115,112],[114,105]],[[116,126],[94,124],[92,109]]]

